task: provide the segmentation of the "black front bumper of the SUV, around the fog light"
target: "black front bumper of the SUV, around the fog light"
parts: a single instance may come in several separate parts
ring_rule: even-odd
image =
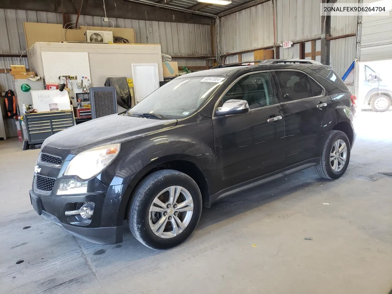
[[[89,192],[82,195],[38,194],[29,191],[34,210],[47,220],[60,225],[72,235],[97,244],[115,244],[123,240],[123,194],[126,185],[107,187],[106,192]],[[54,191],[54,190],[53,190]],[[102,190],[101,190],[102,191]],[[94,202],[91,222],[82,223],[77,216],[67,216],[65,211],[76,209],[77,203]]]

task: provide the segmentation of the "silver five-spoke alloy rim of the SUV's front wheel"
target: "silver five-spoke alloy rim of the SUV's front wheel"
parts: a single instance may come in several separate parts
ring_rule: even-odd
[[[149,225],[160,238],[173,238],[189,225],[193,214],[191,193],[181,186],[163,189],[152,201]]]

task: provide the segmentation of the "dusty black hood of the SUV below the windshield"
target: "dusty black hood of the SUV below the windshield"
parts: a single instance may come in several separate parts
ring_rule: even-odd
[[[45,152],[45,149],[67,149],[78,153],[105,144],[131,140],[150,132],[174,127],[176,124],[177,120],[155,120],[112,114],[75,125],[48,137],[42,145],[42,150]]]

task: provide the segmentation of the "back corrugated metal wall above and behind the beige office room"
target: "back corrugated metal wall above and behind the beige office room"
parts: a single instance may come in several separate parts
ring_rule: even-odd
[[[110,18],[114,27],[132,28],[135,30],[136,42],[161,44],[162,53],[176,56],[211,55],[211,25],[183,24],[175,22],[155,22],[148,20],[131,20]],[[71,21],[76,15],[71,15]],[[0,54],[22,54],[26,49],[23,22],[42,22],[62,24],[61,13],[42,11],[26,11],[0,9]],[[103,22],[102,17],[81,15],[80,25],[110,27],[111,22]],[[27,58],[20,59],[21,64],[28,66]],[[181,65],[205,65],[204,60],[181,60]],[[0,68],[9,68],[18,64],[18,58],[0,57]],[[0,73],[0,90],[12,89],[9,74]]]

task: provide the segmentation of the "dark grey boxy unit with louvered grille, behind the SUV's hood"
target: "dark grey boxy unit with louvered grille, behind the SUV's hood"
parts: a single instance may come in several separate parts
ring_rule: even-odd
[[[116,89],[114,87],[90,87],[91,118],[117,113]]]

